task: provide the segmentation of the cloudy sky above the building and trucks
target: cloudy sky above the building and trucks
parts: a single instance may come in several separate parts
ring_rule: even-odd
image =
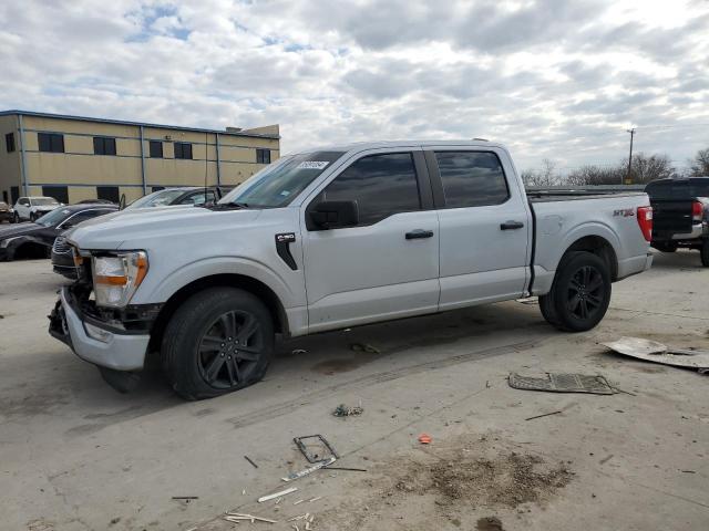
[[[0,108],[222,128],[284,152],[484,137],[518,166],[709,146],[709,0],[0,3]]]

